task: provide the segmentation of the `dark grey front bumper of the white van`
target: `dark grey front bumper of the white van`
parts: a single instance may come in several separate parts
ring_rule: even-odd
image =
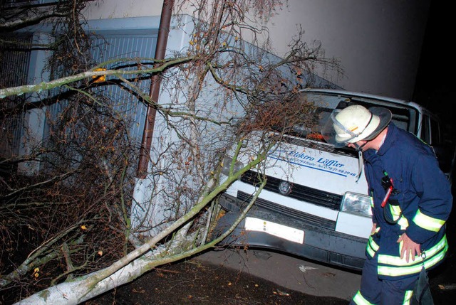
[[[242,212],[239,208],[242,206],[240,201],[227,194],[223,194],[219,198],[220,205],[227,210],[227,213],[218,220],[212,239],[222,234],[239,218]],[[222,240],[220,245],[273,249],[348,269],[361,270],[363,268],[366,259],[366,238],[322,228],[310,224],[309,220],[290,217],[285,213],[278,213],[276,210],[271,212],[264,208],[257,208],[255,205],[247,213],[247,218],[256,218],[303,230],[304,242],[294,242],[260,230],[246,230],[244,218],[237,228]]]

